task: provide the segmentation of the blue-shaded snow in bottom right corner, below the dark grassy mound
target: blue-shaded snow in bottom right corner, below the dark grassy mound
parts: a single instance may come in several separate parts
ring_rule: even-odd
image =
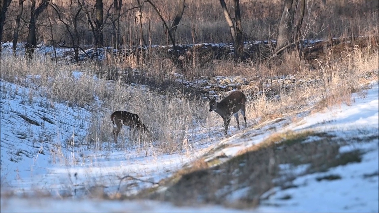
[[[277,191],[264,204],[280,205],[277,210],[290,212],[378,212],[378,175],[365,177],[378,171],[378,147],[366,153],[361,163],[348,164],[328,172],[298,177],[297,188]],[[338,180],[321,180],[317,177],[340,175]],[[280,199],[290,196],[291,199]]]

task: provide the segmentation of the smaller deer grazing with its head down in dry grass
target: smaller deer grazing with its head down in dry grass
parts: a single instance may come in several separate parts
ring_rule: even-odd
[[[114,142],[117,143],[117,136],[121,131],[122,125],[130,128],[129,138],[131,138],[131,132],[135,133],[138,129],[139,132],[147,132],[146,126],[141,122],[137,114],[127,111],[115,111],[111,114],[111,121],[113,122],[113,135]]]

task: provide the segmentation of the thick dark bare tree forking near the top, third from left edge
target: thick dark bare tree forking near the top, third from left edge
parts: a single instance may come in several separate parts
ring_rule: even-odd
[[[37,39],[36,39],[36,22],[38,20],[39,14],[41,14],[49,5],[50,0],[43,0],[41,4],[36,7],[36,0],[31,0],[31,14],[30,14],[30,22],[28,26],[28,39],[26,44],[25,53],[31,58],[34,53],[34,49],[36,48]]]

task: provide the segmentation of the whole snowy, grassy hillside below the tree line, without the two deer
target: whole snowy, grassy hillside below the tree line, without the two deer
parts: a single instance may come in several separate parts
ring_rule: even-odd
[[[105,50],[72,63],[72,49],[41,44],[28,60],[3,43],[1,211],[379,211],[377,49],[337,40],[309,41],[305,60],[214,59],[191,72],[159,47],[132,68]],[[192,48],[212,45],[228,48]],[[224,135],[207,97],[236,90],[247,128],[232,117]],[[151,137],[123,127],[114,143],[116,110]]]

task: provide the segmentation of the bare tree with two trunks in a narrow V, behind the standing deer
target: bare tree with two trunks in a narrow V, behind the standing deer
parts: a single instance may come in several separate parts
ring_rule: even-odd
[[[230,28],[230,35],[232,36],[235,58],[236,60],[241,60],[244,52],[244,39],[241,24],[240,1],[233,0],[232,2],[234,8],[235,23],[233,23],[233,20],[230,17],[230,13],[228,11],[228,8],[226,7],[225,1],[220,0],[222,11],[224,12],[226,22],[228,23]]]

